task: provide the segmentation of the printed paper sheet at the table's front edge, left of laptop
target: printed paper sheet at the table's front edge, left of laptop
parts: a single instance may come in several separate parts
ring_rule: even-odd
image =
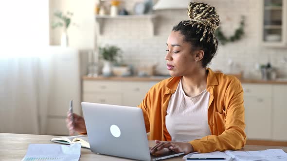
[[[22,161],[79,161],[81,144],[30,144]]]

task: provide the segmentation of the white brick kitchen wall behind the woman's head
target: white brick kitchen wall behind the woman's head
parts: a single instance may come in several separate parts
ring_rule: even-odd
[[[137,0],[128,0],[129,11]],[[239,27],[241,16],[246,17],[245,36],[238,42],[220,45],[211,68],[223,72],[236,73],[244,71],[245,78],[255,76],[256,64],[267,64],[268,61],[277,68],[279,77],[287,77],[287,48],[267,48],[260,45],[260,0],[202,0],[217,9],[221,27],[226,35],[232,35]],[[123,50],[123,59],[133,66],[159,63],[157,72],[167,74],[166,40],[174,25],[180,20],[188,19],[186,10],[155,11],[155,35],[151,35],[150,21],[142,19],[108,19],[104,21],[103,34],[96,39],[98,46],[117,45]],[[116,25],[115,25],[116,24]],[[228,65],[233,61],[236,67],[230,71]]]

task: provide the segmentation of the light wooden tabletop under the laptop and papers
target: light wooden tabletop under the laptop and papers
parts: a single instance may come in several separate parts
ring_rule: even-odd
[[[28,134],[9,134],[0,133],[0,161],[20,161],[24,158],[29,144],[58,144],[51,142],[50,139],[60,136],[51,135],[28,135]],[[149,141],[149,146],[154,146],[154,141]],[[246,145],[239,151],[283,149],[287,152],[287,147],[283,146],[260,146]],[[90,149],[81,148],[80,161],[132,161],[125,158],[118,158],[108,155],[92,153]],[[167,161],[182,161],[182,156],[168,159]]]

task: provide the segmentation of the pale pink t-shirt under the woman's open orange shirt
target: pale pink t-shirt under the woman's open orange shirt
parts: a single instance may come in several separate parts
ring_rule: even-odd
[[[189,142],[211,135],[207,120],[210,93],[205,89],[195,97],[188,97],[182,89],[181,81],[169,100],[165,116],[171,140]]]

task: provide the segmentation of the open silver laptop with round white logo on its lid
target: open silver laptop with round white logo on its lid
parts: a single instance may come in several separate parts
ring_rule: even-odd
[[[142,109],[82,102],[90,150],[94,153],[142,161],[157,161],[184,153],[170,150],[151,155]]]

